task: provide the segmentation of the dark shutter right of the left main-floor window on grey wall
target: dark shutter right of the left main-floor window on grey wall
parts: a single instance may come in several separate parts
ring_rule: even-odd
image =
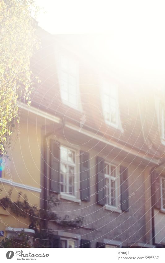
[[[80,194],[81,200],[90,201],[89,153],[80,151]]]

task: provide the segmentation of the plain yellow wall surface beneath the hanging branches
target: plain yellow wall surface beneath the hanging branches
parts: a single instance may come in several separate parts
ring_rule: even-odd
[[[22,195],[27,195],[29,204],[36,205],[39,208],[39,192],[13,185],[16,182],[38,189],[41,188],[41,129],[40,127],[36,128],[35,124],[32,124],[31,121],[24,117],[23,112],[20,115],[20,127],[17,127],[19,134],[18,137],[14,135],[12,138],[11,148],[8,150],[10,160],[7,160],[5,169],[2,172],[2,178],[9,179],[10,184],[0,184],[0,189],[2,189],[0,199],[6,196],[12,187],[11,199],[13,201],[17,200],[18,192],[21,191]],[[5,227],[9,226],[28,228],[29,221],[27,218],[17,217],[10,210],[6,211],[0,207],[0,230],[5,231]]]

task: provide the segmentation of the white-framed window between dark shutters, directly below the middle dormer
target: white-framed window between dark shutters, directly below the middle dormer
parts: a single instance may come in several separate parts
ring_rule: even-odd
[[[116,166],[105,163],[106,205],[117,206]]]

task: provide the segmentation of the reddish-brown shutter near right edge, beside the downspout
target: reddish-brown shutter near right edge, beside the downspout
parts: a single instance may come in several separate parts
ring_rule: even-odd
[[[160,189],[160,176],[157,171],[153,171],[151,174],[152,182],[152,195],[153,195],[153,205],[154,208],[161,208],[161,189]]]

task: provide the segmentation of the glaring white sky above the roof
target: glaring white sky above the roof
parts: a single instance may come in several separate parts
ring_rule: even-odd
[[[39,25],[52,34],[106,33],[104,56],[125,76],[165,87],[165,2],[37,0]],[[100,47],[101,50],[101,47]]]

